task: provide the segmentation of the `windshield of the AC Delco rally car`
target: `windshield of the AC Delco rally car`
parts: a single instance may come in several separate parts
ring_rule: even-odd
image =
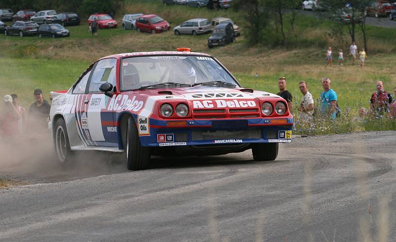
[[[223,81],[239,86],[213,58],[203,56],[159,55],[129,57],[122,60],[120,87],[133,90],[142,86],[172,82],[193,85]]]

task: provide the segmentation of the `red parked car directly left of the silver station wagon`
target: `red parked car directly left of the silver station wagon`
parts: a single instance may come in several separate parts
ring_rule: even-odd
[[[142,15],[136,20],[136,30],[155,34],[170,30],[170,25],[158,15],[148,14]]]

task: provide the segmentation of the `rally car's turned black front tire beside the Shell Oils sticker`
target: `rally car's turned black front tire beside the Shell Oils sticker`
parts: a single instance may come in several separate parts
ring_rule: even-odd
[[[143,147],[140,144],[136,122],[132,117],[128,119],[124,149],[128,170],[144,170],[148,168],[150,148]]]

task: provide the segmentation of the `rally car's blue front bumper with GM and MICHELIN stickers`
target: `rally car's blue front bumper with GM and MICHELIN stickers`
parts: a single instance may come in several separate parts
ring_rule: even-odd
[[[149,135],[140,136],[142,146],[212,146],[250,143],[290,143],[293,118],[285,123],[270,119],[187,120],[187,125],[169,126],[150,119]]]

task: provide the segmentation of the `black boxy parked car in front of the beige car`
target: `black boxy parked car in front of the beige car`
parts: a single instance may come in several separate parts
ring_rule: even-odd
[[[214,27],[212,35],[207,40],[207,46],[212,48],[217,45],[226,45],[235,42],[235,32],[232,24],[218,24]]]

